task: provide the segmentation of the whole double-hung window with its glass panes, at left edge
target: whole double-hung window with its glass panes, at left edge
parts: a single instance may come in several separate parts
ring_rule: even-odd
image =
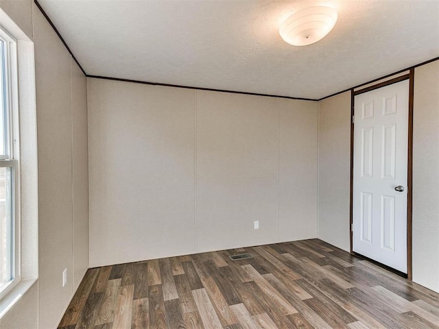
[[[0,29],[0,297],[20,281],[16,41]]]

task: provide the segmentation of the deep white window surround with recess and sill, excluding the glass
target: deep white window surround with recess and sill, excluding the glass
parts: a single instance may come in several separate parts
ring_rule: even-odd
[[[10,88],[11,113],[14,137],[14,160],[19,162],[16,173],[20,173],[14,191],[20,199],[15,200],[19,224],[15,236],[15,250],[18,273],[9,292],[0,298],[0,319],[18,304],[30,289],[38,289],[38,151],[36,134],[36,91],[34,42],[6,12],[0,8],[0,24],[12,40],[16,40],[16,55],[10,56],[16,62],[17,71],[10,72],[15,88]],[[18,130],[20,128],[20,130]],[[20,149],[18,149],[20,147]],[[10,163],[11,164],[11,163]],[[19,201],[19,204],[16,202]],[[14,286],[14,287],[13,287]]]

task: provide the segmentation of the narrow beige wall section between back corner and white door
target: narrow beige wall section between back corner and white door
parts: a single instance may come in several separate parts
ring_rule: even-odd
[[[349,251],[351,92],[319,101],[318,238]]]

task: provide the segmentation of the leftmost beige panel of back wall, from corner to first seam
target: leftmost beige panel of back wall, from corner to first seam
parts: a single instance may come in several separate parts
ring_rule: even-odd
[[[87,88],[90,267],[193,252],[193,90]]]

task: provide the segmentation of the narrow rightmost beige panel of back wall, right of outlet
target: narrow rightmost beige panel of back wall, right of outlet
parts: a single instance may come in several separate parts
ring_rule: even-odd
[[[312,101],[278,99],[278,241],[317,236],[316,105]]]

